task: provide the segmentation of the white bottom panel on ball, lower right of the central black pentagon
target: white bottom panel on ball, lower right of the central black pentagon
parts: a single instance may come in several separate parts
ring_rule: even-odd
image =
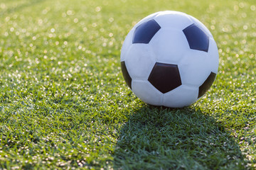
[[[170,108],[182,108],[196,102],[197,97],[198,88],[181,85],[164,94],[163,105]]]

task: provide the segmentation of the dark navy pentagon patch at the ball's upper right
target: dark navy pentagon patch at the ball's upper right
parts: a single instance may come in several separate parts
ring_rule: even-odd
[[[186,35],[191,49],[208,52],[209,37],[196,24],[193,23],[191,26],[185,28],[183,33]]]

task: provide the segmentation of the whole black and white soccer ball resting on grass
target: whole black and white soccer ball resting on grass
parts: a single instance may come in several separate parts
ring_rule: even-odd
[[[139,21],[121,50],[124,80],[154,106],[182,108],[210,89],[218,72],[213,35],[193,16],[161,11]]]

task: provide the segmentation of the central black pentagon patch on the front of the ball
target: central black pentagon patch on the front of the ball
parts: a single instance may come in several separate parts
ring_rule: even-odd
[[[148,80],[163,94],[181,86],[181,76],[176,64],[156,62]]]

